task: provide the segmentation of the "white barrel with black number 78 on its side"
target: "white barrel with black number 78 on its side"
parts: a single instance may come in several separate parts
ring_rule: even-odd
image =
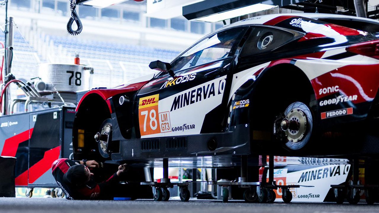
[[[75,64],[39,64],[38,76],[47,84],[47,91],[76,92],[90,89],[90,70]]]

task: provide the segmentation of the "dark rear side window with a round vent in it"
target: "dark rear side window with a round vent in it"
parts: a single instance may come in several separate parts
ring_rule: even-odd
[[[271,27],[254,27],[241,50],[240,56],[268,53],[291,41],[294,36],[288,31]]]

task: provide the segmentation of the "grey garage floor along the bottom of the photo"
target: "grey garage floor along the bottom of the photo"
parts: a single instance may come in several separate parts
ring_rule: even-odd
[[[248,204],[243,201],[222,203],[205,200],[181,202],[154,202],[152,200],[113,201],[113,200],[66,200],[59,198],[0,198],[0,212],[6,213],[323,213],[323,212],[379,212],[379,205],[334,204],[334,203],[274,203]]]

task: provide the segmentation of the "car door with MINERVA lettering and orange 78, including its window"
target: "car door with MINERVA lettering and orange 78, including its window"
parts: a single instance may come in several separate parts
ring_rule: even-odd
[[[136,98],[141,138],[194,135],[219,125],[227,74],[247,28],[200,40],[171,63],[174,76],[161,72],[141,88]]]

